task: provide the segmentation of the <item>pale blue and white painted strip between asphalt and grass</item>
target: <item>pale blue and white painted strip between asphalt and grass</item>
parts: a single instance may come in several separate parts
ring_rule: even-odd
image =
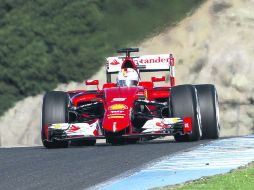
[[[229,172],[254,160],[254,135],[212,141],[196,149],[164,157],[125,178],[97,189],[150,189],[174,185],[203,176]]]

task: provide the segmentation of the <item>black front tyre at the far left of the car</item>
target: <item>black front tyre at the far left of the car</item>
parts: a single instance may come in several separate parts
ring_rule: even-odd
[[[43,97],[41,140],[46,148],[66,148],[67,141],[47,141],[46,126],[53,123],[68,123],[69,97],[65,92],[51,91]]]

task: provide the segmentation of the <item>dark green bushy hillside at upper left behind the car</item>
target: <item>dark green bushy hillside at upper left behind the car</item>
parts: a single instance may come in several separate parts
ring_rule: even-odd
[[[90,77],[115,49],[158,33],[204,0],[1,0],[0,115]]]

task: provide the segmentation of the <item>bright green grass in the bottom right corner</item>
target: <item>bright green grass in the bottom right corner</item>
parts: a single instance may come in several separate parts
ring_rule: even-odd
[[[233,160],[232,160],[233,161]],[[163,190],[252,190],[254,189],[254,162],[224,175],[205,177],[183,185],[158,188]]]

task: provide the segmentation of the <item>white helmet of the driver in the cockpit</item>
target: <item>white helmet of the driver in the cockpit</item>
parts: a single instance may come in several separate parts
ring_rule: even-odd
[[[122,69],[116,78],[117,86],[137,86],[139,76],[136,70],[132,68]]]

